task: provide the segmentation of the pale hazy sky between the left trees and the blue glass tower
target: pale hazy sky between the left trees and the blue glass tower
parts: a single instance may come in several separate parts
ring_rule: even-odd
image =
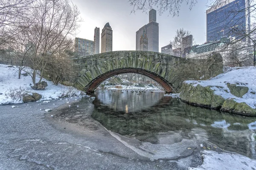
[[[161,47],[173,40],[175,31],[184,28],[190,31],[196,44],[206,41],[206,2],[201,2],[189,10],[183,3],[180,15],[168,16],[168,12],[157,14],[159,23],[159,52]],[[136,11],[131,14],[132,6],[128,0],[73,0],[81,12],[83,22],[76,37],[93,40],[94,28],[102,28],[109,23],[113,30],[113,51],[135,50],[136,31],[148,23],[148,14]],[[155,8],[157,10],[157,8]],[[101,42],[100,42],[101,43]]]

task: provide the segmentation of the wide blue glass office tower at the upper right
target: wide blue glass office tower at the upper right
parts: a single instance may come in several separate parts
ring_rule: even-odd
[[[223,0],[206,11],[206,40],[218,41],[221,37],[241,38],[250,30],[249,0]],[[248,9],[248,10],[246,10]]]

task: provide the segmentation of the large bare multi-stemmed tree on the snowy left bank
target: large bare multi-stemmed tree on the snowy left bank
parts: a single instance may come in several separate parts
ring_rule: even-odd
[[[32,45],[28,74],[32,78],[33,88],[37,89],[45,68],[53,58],[61,56],[63,51],[73,48],[70,36],[75,34],[79,22],[79,10],[69,0],[37,0],[33,3],[30,18],[35,21],[24,29],[27,44]],[[36,81],[36,71],[40,73]]]

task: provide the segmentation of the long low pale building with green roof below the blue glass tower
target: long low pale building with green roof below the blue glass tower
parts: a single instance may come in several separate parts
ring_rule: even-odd
[[[192,46],[189,53],[205,53],[208,51],[214,51],[216,48],[221,47],[224,44],[229,43],[230,40],[227,37],[222,37],[221,40],[215,42],[205,42],[203,45]]]

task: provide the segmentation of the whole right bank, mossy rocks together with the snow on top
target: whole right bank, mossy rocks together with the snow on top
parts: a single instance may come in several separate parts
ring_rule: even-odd
[[[180,90],[180,99],[192,105],[256,116],[255,73],[256,67],[247,67],[212,80],[185,81]]]

